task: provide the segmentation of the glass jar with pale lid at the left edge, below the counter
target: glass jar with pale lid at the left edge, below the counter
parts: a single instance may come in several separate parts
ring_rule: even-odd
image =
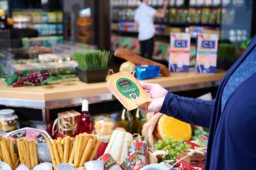
[[[18,117],[14,110],[4,109],[0,110],[0,131],[10,132],[18,127]]]

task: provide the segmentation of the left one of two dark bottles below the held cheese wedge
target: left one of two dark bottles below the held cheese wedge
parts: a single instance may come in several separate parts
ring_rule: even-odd
[[[124,127],[125,131],[132,131],[132,114],[131,111],[126,110],[125,108],[122,110],[122,113],[118,116],[118,127]]]

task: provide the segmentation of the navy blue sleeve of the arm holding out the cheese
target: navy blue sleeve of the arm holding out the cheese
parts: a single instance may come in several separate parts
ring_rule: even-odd
[[[210,127],[213,107],[214,101],[180,97],[168,92],[159,112],[189,124]]]

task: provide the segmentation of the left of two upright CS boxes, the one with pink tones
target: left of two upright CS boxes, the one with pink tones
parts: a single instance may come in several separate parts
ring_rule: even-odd
[[[188,33],[170,34],[169,69],[173,72],[188,72],[190,35]]]

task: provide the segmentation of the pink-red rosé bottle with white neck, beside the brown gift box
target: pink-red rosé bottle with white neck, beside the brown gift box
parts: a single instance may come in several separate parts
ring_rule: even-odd
[[[92,131],[93,131],[93,122],[92,122],[90,113],[88,111],[88,101],[83,100],[81,117],[77,121],[77,134],[81,134],[84,132],[88,134],[92,134]]]

